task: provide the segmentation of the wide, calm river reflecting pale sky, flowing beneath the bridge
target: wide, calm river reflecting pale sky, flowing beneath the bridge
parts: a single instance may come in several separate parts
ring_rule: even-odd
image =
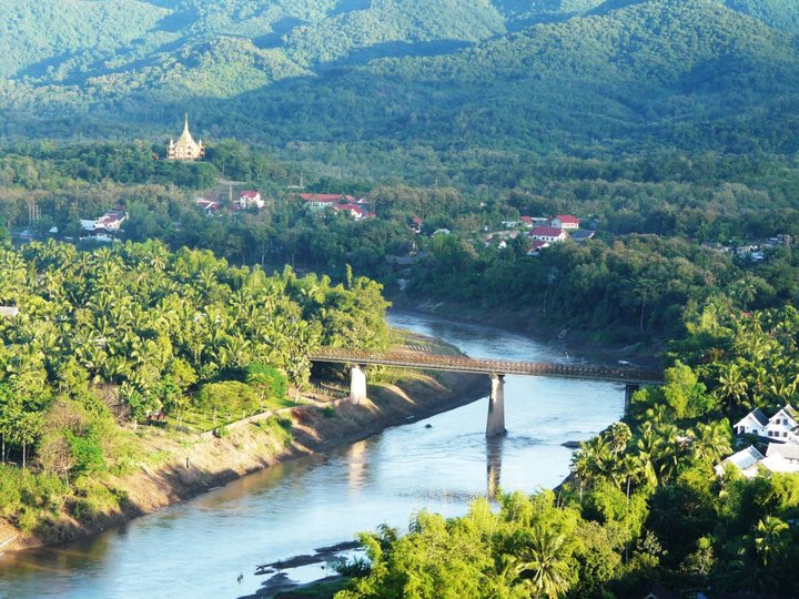
[[[394,326],[439,337],[472,356],[589,364],[562,348],[479,325],[394,313]],[[407,529],[428,509],[464,514],[489,480],[534,491],[568,473],[564,440],[618,419],[624,387],[508,376],[508,435],[486,441],[487,399],[276,466],[89,539],[0,559],[2,598],[235,598],[265,577],[255,566],[351,540],[381,524]],[[291,573],[317,577],[321,566]],[[243,579],[239,581],[239,576]]]

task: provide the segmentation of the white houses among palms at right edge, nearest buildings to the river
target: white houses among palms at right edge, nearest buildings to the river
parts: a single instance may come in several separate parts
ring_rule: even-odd
[[[760,446],[766,446],[765,454],[755,446],[749,446],[716,466],[721,476],[732,466],[747,478],[754,478],[761,469],[771,473],[799,473],[799,413],[786,404],[770,418],[760,409],[754,409],[734,426],[736,435],[755,435]]]

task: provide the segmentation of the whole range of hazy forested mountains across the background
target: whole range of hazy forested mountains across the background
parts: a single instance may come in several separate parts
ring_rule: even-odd
[[[161,139],[191,108],[204,138],[310,154],[321,142],[371,155],[386,140],[439,153],[799,148],[797,17],[779,0],[0,3],[11,139],[91,138],[108,122]]]

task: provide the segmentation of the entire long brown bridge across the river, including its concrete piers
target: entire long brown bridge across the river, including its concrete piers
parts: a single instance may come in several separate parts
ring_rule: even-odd
[[[424,352],[371,352],[368,349],[320,347],[313,352],[310,357],[313,362],[348,364],[351,366],[350,398],[355,403],[366,398],[366,375],[362,368],[362,366],[365,365],[487,374],[492,380],[492,390],[488,399],[488,419],[486,424],[486,436],[488,437],[505,433],[504,377],[508,374],[624,383],[625,407],[629,405],[633,393],[641,385],[658,385],[663,383],[661,372],[641,368],[473,358],[468,356],[435,355]]]

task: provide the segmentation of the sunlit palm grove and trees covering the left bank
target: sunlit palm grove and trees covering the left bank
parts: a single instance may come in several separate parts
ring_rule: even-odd
[[[148,461],[130,426],[148,415],[223,434],[291,405],[314,347],[390,342],[372,281],[267,276],[158,242],[0,247],[0,302],[19,309],[0,318],[0,516],[33,532],[124,501],[105,475]]]

